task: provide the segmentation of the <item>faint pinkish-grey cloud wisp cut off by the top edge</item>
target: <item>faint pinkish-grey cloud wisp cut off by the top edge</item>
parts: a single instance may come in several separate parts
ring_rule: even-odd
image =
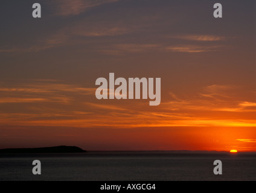
[[[118,0],[56,0],[51,3],[53,4],[56,15],[72,16],[83,13],[89,8],[117,1]]]

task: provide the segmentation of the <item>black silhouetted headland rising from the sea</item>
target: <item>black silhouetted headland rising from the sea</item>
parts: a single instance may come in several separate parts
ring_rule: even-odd
[[[0,153],[85,153],[79,147],[60,145],[56,147],[39,147],[39,148],[7,148],[1,149]]]

